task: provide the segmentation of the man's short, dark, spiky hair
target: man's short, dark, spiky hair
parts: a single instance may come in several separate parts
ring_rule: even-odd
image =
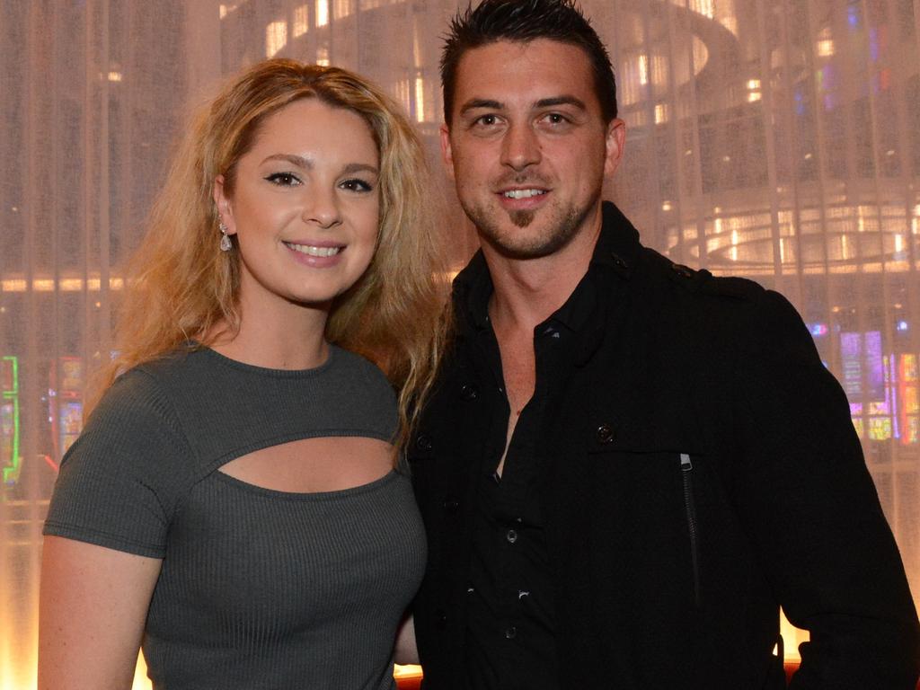
[[[610,56],[575,0],[483,0],[475,10],[468,5],[458,12],[444,37],[441,84],[447,124],[454,109],[457,65],[466,51],[499,40],[529,43],[535,39],[558,40],[581,48],[591,60],[594,91],[604,121],[616,117],[616,82]]]

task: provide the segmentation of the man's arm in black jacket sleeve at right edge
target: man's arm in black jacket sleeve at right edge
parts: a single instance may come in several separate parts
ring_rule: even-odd
[[[840,385],[799,315],[764,293],[737,376],[742,521],[790,622],[792,688],[914,690],[917,616]]]

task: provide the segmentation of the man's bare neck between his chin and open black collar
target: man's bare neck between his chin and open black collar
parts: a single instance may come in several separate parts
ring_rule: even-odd
[[[532,332],[564,305],[588,271],[600,232],[600,223],[584,228],[566,247],[537,259],[512,259],[484,242],[494,289],[489,317],[496,328]]]

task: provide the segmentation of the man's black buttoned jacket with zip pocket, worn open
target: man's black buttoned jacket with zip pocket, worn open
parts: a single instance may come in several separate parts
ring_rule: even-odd
[[[592,271],[609,288],[541,443],[560,687],[785,687],[778,608],[811,631],[791,687],[913,690],[917,617],[845,395],[778,293],[641,247],[613,204]],[[426,690],[462,676],[483,396],[456,334],[410,443],[429,539],[415,605]]]

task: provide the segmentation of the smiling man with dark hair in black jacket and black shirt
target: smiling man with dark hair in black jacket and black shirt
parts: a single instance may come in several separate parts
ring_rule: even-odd
[[[914,688],[917,619],[840,386],[777,293],[641,247],[571,0],[484,0],[442,62],[481,252],[408,449],[425,688]],[[778,654],[774,650],[778,644]]]

